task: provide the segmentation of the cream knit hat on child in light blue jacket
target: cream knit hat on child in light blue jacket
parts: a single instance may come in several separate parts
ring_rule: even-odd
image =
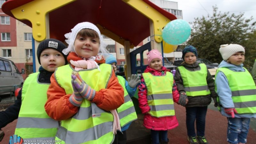
[[[236,52],[245,52],[244,47],[239,44],[223,44],[220,45],[220,54],[223,60],[228,60]]]

